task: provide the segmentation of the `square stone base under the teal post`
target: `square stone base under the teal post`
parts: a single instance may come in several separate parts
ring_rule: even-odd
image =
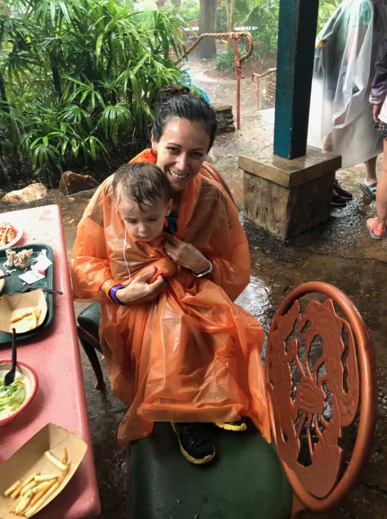
[[[308,146],[288,160],[261,151],[240,156],[245,216],[281,238],[296,236],[329,218],[335,172],[341,156]]]

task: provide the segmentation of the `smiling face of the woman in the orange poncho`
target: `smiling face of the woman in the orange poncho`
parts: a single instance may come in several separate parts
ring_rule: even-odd
[[[210,136],[201,121],[172,117],[159,142],[152,135],[157,166],[167,176],[174,192],[183,190],[202,167],[210,145]]]

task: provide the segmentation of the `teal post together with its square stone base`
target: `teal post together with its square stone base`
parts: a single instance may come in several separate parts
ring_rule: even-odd
[[[281,0],[274,154],[239,157],[247,218],[282,238],[327,220],[341,157],[307,147],[319,0]]]

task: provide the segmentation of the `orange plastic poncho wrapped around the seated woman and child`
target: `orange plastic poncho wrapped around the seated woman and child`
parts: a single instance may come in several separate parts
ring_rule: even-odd
[[[156,158],[145,151],[133,161]],[[152,244],[126,233],[113,197],[113,175],[98,188],[78,225],[71,268],[76,298],[101,303],[99,333],[110,383],[128,406],[118,443],[149,435],[154,421],[213,422],[250,417],[270,441],[264,332],[230,299],[248,283],[250,257],[238,211],[215,181],[197,175],[184,189],[175,236],[213,263],[196,278]],[[120,306],[100,291],[127,285],[154,265],[167,285],[157,301]]]

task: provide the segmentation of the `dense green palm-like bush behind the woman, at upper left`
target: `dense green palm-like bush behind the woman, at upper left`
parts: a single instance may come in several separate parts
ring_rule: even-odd
[[[129,0],[12,0],[11,16],[1,9],[1,156],[57,175],[68,161],[113,151],[126,160],[146,145],[160,88],[179,82],[169,57],[178,18],[136,12]]]

